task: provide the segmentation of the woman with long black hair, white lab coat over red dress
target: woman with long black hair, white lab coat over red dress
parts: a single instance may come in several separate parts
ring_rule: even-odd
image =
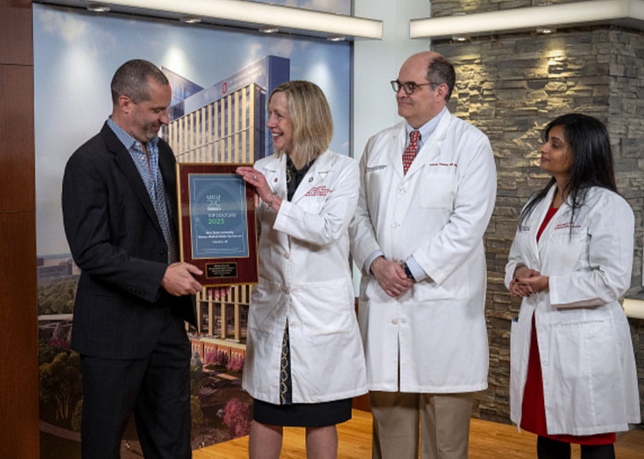
[[[523,297],[510,337],[510,417],[538,434],[539,458],[614,458],[639,423],[628,321],[634,216],[617,194],[606,127],[567,114],[545,128],[550,182],[525,205],[506,266]]]

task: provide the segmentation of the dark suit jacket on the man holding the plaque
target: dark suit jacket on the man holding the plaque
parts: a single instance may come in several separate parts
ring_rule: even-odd
[[[159,166],[176,234],[175,158],[163,140]],[[166,242],[136,165],[107,124],[69,158],[62,212],[82,270],[73,349],[101,358],[142,358],[156,344],[167,314],[195,323],[193,297],[173,297],[160,286]]]

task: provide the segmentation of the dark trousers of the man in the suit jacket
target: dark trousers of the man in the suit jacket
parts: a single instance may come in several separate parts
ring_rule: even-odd
[[[136,360],[81,356],[82,457],[118,459],[132,412],[146,459],[192,457],[190,343],[184,322],[168,314],[152,353]]]

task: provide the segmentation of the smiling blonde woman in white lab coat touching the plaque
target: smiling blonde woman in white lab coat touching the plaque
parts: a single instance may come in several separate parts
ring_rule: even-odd
[[[252,458],[278,458],[282,427],[306,427],[309,458],[335,458],[335,425],[367,392],[349,269],[358,164],[327,151],[331,112],[310,82],[269,97],[275,154],[238,173],[262,203],[243,387],[253,397]]]

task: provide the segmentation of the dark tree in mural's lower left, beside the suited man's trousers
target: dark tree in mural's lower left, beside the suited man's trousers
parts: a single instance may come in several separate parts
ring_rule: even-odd
[[[55,404],[56,419],[69,418],[73,402],[81,395],[80,358],[75,352],[60,352],[38,368],[40,400]]]

